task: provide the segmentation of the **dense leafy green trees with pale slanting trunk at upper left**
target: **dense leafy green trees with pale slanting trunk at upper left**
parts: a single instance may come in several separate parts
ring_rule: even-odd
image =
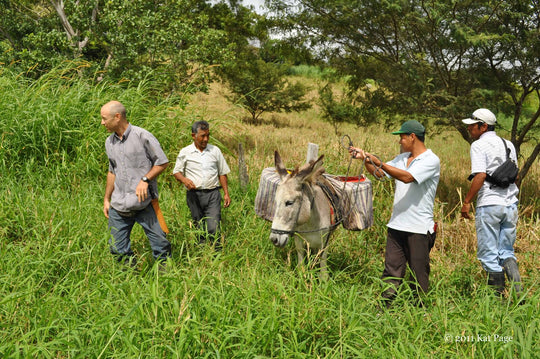
[[[11,50],[0,54],[0,61],[39,77],[61,61],[82,57],[93,65],[89,75],[98,73],[98,79],[137,81],[152,74],[162,91],[201,89],[211,68],[232,55],[227,31],[212,23],[215,12],[224,12],[221,5],[2,0],[0,11],[9,17],[0,19],[0,43]]]

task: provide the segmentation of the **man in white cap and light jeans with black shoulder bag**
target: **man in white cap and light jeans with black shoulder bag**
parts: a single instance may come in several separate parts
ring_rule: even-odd
[[[504,273],[514,282],[516,292],[521,291],[521,277],[514,254],[518,220],[518,187],[511,183],[503,188],[489,182],[490,174],[506,160],[506,147],[510,158],[517,163],[516,150],[510,141],[495,134],[497,119],[493,112],[480,108],[471,118],[463,120],[471,137],[471,187],[465,196],[461,215],[470,219],[471,202],[476,203],[477,257],[488,274],[488,284],[502,295]],[[504,142],[503,142],[504,141]]]

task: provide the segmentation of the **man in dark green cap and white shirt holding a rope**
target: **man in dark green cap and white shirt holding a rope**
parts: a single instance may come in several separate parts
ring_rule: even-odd
[[[439,183],[440,160],[424,144],[425,128],[416,120],[403,123],[399,131],[400,154],[383,163],[363,149],[349,147],[353,158],[363,160],[366,169],[378,179],[395,179],[392,217],[388,222],[383,280],[389,287],[383,293],[390,306],[405,277],[407,263],[415,276],[413,289],[429,288],[429,252],[435,243],[436,223],[433,204]]]

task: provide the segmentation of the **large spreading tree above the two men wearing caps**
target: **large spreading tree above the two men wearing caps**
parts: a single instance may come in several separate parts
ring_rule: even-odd
[[[538,0],[268,0],[291,40],[346,76],[363,121],[414,114],[453,126],[488,107],[511,122],[516,150],[540,152]],[[376,115],[374,115],[376,114]]]

